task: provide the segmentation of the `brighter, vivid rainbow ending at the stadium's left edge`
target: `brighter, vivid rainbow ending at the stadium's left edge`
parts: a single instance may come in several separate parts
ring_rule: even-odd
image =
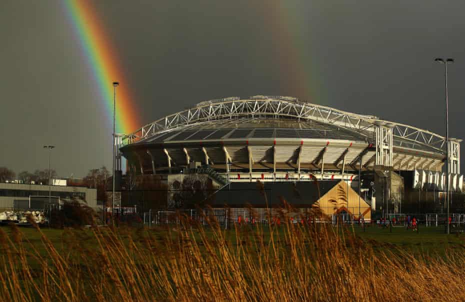
[[[135,113],[129,88],[118,65],[116,51],[111,46],[104,28],[87,0],[65,0],[65,11],[79,39],[87,63],[91,69],[96,89],[103,102],[109,124],[113,124],[113,81],[116,88],[116,132],[130,133],[141,123]]]

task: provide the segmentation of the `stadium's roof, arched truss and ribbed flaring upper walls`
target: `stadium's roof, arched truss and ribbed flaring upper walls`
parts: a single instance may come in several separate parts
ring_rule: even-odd
[[[445,139],[436,133],[288,96],[203,101],[148,123],[122,141],[122,154],[142,174],[180,171],[193,161],[250,175],[252,170],[344,174],[360,166],[440,171],[445,157]],[[456,155],[450,158],[458,166],[454,143]]]

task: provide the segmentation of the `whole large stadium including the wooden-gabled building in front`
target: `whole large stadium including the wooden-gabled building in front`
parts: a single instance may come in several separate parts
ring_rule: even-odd
[[[170,188],[204,175],[213,207],[285,200],[364,219],[442,211],[446,147],[449,191],[452,200],[461,198],[460,141],[446,144],[443,136],[414,126],[265,95],[202,101],[116,137],[117,167],[122,155],[130,174],[159,175]]]

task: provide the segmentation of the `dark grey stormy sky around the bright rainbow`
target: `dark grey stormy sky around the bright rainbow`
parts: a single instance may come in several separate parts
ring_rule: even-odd
[[[200,100],[290,95],[465,137],[465,2],[94,1],[143,123]],[[111,168],[111,124],[61,1],[0,1],[0,166]],[[463,160],[462,160],[463,162]],[[464,166],[462,165],[462,169]]]

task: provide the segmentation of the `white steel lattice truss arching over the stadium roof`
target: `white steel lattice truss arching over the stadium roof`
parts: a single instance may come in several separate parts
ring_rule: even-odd
[[[315,120],[340,128],[357,131],[373,137],[375,122],[382,121],[392,125],[392,136],[402,138],[403,143],[428,146],[445,153],[445,139],[436,133],[413,126],[379,120],[376,116],[345,112],[327,106],[299,101],[286,96],[256,95],[247,99],[229,97],[204,101],[196,106],[167,115],[148,123],[133,133],[123,137],[124,144],[133,143],[150,137],[160,131],[194,124],[202,121],[238,119],[241,117],[289,117],[297,120]],[[402,142],[401,142],[402,143]]]

